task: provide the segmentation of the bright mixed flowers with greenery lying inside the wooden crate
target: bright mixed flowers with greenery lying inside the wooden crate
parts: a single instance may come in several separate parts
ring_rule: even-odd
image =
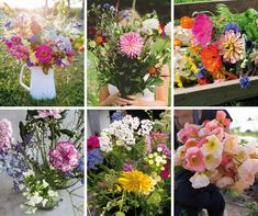
[[[238,79],[250,86],[258,72],[258,12],[232,13],[217,4],[217,14],[195,12],[175,26],[176,87]]]

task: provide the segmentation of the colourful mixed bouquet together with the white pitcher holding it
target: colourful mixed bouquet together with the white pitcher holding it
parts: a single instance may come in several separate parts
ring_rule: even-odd
[[[11,56],[24,64],[21,86],[33,99],[54,99],[54,69],[71,65],[83,49],[83,33],[78,29],[82,24],[61,22],[60,27],[58,18],[15,12],[5,14],[2,22],[4,29],[0,42]],[[30,87],[22,81],[25,68],[31,70]]]

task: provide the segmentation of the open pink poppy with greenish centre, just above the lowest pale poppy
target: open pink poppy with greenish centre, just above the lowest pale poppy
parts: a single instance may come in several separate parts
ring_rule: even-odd
[[[203,154],[200,148],[191,147],[186,154],[186,169],[203,172],[205,170]]]

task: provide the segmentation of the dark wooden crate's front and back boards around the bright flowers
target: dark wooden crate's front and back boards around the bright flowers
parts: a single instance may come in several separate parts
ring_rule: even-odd
[[[175,19],[191,16],[195,11],[215,12],[216,4],[224,3],[233,12],[243,12],[248,8],[258,9],[258,0],[220,0],[195,3],[175,4]],[[250,78],[251,86],[239,87],[239,80],[225,81],[206,86],[175,89],[176,106],[209,106],[220,105],[242,99],[258,96],[258,77]]]

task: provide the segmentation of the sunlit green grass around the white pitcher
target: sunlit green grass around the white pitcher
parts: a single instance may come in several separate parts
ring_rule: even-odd
[[[36,101],[20,86],[22,64],[0,46],[0,106],[83,106],[83,55],[72,66],[55,70],[57,98]],[[30,72],[25,71],[24,82],[30,84]]]

